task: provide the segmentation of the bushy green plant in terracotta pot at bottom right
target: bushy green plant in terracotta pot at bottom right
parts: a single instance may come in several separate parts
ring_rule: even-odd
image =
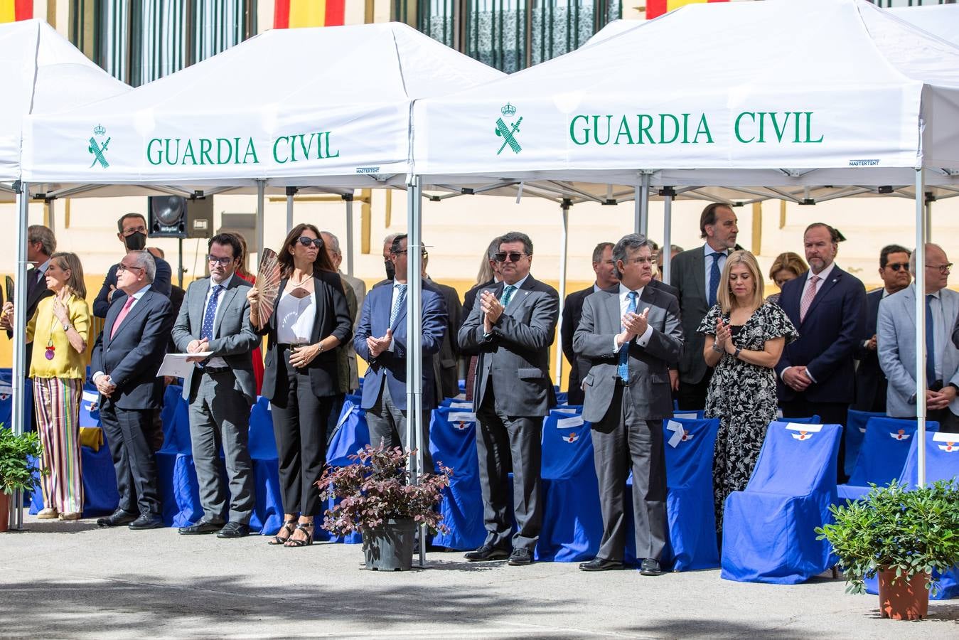
[[[848,592],[863,593],[879,577],[883,618],[924,618],[933,570],[959,563],[959,486],[940,480],[921,488],[893,481],[865,498],[831,506],[834,522],[816,528],[839,557]]]

